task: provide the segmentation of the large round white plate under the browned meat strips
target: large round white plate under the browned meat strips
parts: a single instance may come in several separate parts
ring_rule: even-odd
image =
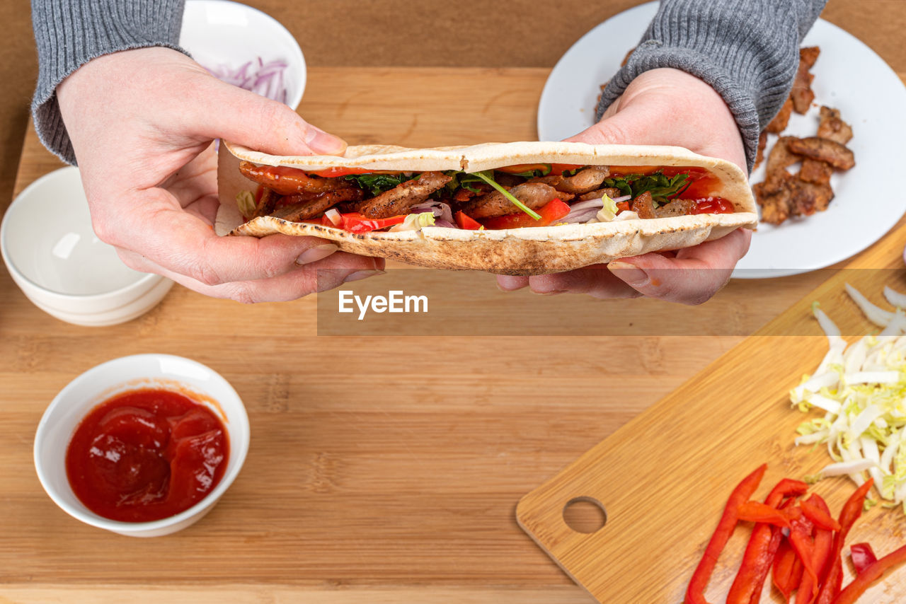
[[[639,42],[656,11],[656,2],[636,6],[573,44],[554,66],[538,103],[539,139],[565,139],[593,124],[600,85]],[[855,153],[856,166],[834,174],[836,197],[826,211],[779,226],[759,225],[733,273],[737,278],[806,273],[838,263],[880,239],[906,211],[895,177],[902,171],[906,87],[872,49],[822,19],[803,45],[821,47],[812,69],[815,106],[804,116],[794,113],[784,134],[814,136],[817,105],[839,109],[843,120],[853,125],[847,146]],[[775,139],[768,138],[766,152]],[[763,178],[764,166],[752,174],[752,182]]]

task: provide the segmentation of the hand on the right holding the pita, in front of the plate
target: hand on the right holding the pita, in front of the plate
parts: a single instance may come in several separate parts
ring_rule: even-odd
[[[707,83],[661,68],[642,73],[604,112],[601,121],[567,139],[590,144],[676,145],[724,158],[746,171],[746,153],[733,114]],[[649,296],[670,302],[707,301],[729,280],[748,251],[752,233],[729,235],[676,252],[643,254],[568,273],[498,276],[510,292],[528,285],[535,293],[588,293],[595,298]]]

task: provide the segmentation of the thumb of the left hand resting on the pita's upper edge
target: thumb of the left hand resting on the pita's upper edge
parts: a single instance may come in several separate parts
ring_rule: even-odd
[[[271,155],[342,155],[346,142],[303,120],[281,102],[211,77],[205,115],[192,128]]]

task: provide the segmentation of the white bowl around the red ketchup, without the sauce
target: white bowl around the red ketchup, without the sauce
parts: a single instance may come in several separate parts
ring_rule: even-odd
[[[220,417],[229,436],[226,471],[214,490],[183,512],[149,523],[123,523],[93,513],[72,493],[66,450],[82,418],[104,400],[139,388],[169,388],[205,404]],[[198,522],[239,475],[246,461],[249,425],[236,390],[217,371],[168,354],[140,354],[102,363],[73,379],[44,411],[34,436],[34,467],[44,491],[63,512],[83,523],[129,537],[157,537]]]

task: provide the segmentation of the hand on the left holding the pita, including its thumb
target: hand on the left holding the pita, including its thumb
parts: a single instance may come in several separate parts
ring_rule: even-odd
[[[294,300],[383,269],[383,260],[337,252],[317,237],[215,235],[213,139],[276,155],[346,148],[285,105],[218,81],[167,48],[94,59],[57,87],[57,98],[94,232],[131,268],[240,302]]]

